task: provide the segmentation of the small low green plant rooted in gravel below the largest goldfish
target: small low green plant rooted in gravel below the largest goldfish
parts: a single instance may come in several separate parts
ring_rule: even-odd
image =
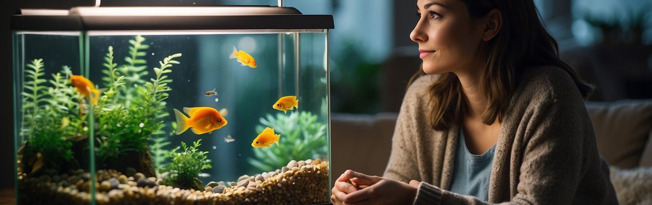
[[[162,182],[164,185],[173,185],[181,188],[193,188],[203,190],[203,186],[196,180],[200,172],[205,169],[211,169],[211,159],[207,159],[208,152],[201,152],[197,149],[200,146],[201,139],[192,143],[192,146],[186,146],[181,142],[181,147],[173,148],[166,154],[172,161],[170,165],[161,169],[160,172],[170,172],[170,177]],[[181,152],[179,151],[181,148]]]

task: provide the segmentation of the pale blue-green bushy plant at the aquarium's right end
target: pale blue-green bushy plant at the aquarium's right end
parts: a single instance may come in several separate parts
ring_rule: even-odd
[[[270,127],[281,137],[278,145],[254,148],[256,158],[250,157],[247,161],[258,171],[278,169],[291,160],[325,157],[328,152],[327,126],[310,112],[292,112],[290,115],[277,113],[276,116],[268,114],[267,118],[260,118],[260,123],[263,125],[256,127],[257,133]]]

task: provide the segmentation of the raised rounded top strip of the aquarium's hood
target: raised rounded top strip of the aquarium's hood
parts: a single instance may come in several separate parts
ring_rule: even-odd
[[[293,10],[278,13],[274,7],[75,7],[77,16],[244,16],[301,14]]]

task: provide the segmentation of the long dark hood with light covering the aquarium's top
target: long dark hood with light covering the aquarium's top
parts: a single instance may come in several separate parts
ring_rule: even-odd
[[[19,31],[333,29],[331,15],[305,15],[271,6],[74,7],[21,9],[11,20]]]

